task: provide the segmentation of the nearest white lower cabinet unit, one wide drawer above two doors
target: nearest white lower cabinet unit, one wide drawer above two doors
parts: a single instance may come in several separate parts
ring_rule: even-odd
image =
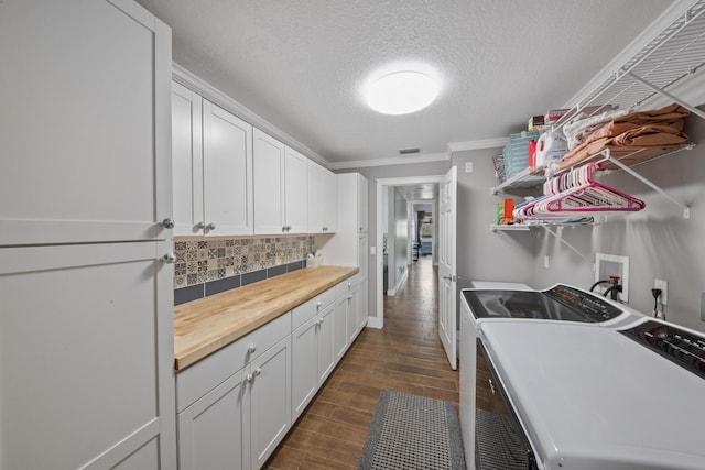
[[[291,315],[176,378],[178,468],[259,469],[291,427]]]

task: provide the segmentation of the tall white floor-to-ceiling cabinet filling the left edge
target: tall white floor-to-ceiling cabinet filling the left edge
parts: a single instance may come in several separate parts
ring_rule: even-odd
[[[171,30],[0,4],[0,469],[175,468]]]

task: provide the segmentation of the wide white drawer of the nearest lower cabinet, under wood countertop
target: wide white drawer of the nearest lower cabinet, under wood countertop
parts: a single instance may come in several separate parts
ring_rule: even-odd
[[[289,311],[180,372],[177,411],[185,409],[288,335],[291,335]]]

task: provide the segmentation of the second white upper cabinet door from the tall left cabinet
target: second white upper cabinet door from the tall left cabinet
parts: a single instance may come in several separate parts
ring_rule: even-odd
[[[205,233],[252,234],[252,127],[204,100],[203,159]]]

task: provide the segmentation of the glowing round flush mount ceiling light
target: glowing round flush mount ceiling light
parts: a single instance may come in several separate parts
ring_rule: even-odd
[[[383,114],[409,114],[424,109],[438,94],[436,81],[421,72],[384,75],[367,87],[367,103]]]

